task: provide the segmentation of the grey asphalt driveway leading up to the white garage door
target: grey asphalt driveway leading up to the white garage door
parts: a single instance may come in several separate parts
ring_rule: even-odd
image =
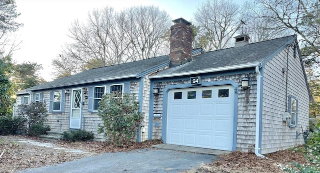
[[[62,164],[18,173],[179,173],[211,163],[214,155],[164,149],[105,153]]]

